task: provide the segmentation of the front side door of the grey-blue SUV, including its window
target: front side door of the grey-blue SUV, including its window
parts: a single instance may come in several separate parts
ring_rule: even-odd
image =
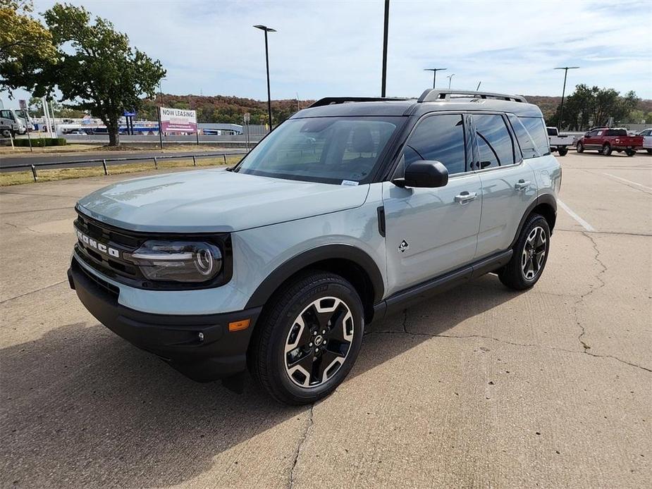
[[[397,187],[383,182],[388,294],[472,261],[480,224],[480,178],[467,171],[471,140],[460,113],[426,116],[408,137],[394,178],[412,161],[448,168],[438,188]]]

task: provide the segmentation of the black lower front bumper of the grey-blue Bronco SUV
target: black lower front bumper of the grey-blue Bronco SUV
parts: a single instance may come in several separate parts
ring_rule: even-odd
[[[226,378],[247,368],[247,347],[261,307],[196,316],[135,311],[118,303],[117,287],[85,271],[75,257],[68,281],[100,323],[194,380]],[[247,318],[249,328],[228,330],[228,323]]]

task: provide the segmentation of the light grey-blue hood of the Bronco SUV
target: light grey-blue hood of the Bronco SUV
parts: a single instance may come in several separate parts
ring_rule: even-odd
[[[137,178],[78,202],[98,221],[134,231],[221,233],[294,221],[364,204],[369,185],[331,185],[221,169]]]

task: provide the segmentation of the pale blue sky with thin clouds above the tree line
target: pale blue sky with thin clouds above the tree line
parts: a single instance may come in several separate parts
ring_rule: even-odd
[[[69,0],[111,20],[167,70],[164,93],[266,99],[378,97],[383,0]],[[35,12],[54,1],[35,0]],[[388,97],[432,86],[560,96],[575,85],[632,89],[652,99],[652,8],[636,1],[390,0]],[[646,27],[647,26],[647,27]],[[16,99],[29,97],[17,91]],[[6,92],[0,94],[5,106]]]

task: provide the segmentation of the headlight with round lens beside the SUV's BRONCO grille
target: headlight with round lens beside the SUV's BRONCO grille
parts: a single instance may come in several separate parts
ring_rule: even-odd
[[[219,247],[207,242],[147,241],[130,259],[149,280],[207,282],[222,268]]]

